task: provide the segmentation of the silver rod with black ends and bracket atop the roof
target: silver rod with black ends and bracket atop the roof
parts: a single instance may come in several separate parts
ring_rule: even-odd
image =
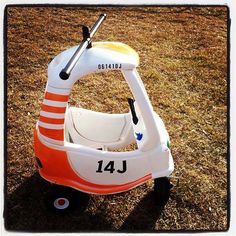
[[[70,77],[71,71],[75,67],[77,61],[83,54],[84,50],[91,45],[92,37],[102,24],[102,22],[106,19],[106,14],[101,14],[95,24],[93,25],[91,31],[89,32],[89,29],[87,26],[83,26],[83,40],[80,43],[79,47],[76,49],[75,53],[69,60],[69,62],[66,64],[65,68],[61,70],[59,76],[63,80],[67,80]]]

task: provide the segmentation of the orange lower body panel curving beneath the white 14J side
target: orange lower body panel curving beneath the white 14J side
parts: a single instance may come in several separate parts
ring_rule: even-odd
[[[126,191],[151,179],[151,174],[148,174],[133,182],[122,185],[99,185],[90,183],[73,171],[69,164],[66,151],[56,150],[44,145],[38,139],[36,130],[34,140],[35,154],[40,159],[43,166],[39,170],[39,173],[50,182],[69,186],[87,193],[111,194]]]

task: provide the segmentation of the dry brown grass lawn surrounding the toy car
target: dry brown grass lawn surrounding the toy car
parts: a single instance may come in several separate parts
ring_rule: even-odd
[[[140,74],[172,141],[175,176],[163,212],[152,182],[129,192],[91,196],[82,212],[52,216],[44,208],[49,186],[36,173],[33,129],[47,64],[78,43],[78,24],[108,14],[98,41],[121,41],[140,55]],[[225,7],[9,7],[7,9],[8,230],[226,230],[227,229],[227,8]],[[72,105],[128,111],[130,92],[116,73],[81,79]]]

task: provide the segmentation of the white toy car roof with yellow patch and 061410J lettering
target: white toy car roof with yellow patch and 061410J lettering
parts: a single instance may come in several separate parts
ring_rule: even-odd
[[[93,47],[86,49],[68,80],[62,80],[59,73],[66,66],[76,51],[69,48],[56,56],[48,66],[48,85],[61,89],[71,89],[82,76],[106,70],[132,70],[138,66],[138,54],[128,45],[119,42],[94,42]],[[117,68],[116,68],[117,67]]]

